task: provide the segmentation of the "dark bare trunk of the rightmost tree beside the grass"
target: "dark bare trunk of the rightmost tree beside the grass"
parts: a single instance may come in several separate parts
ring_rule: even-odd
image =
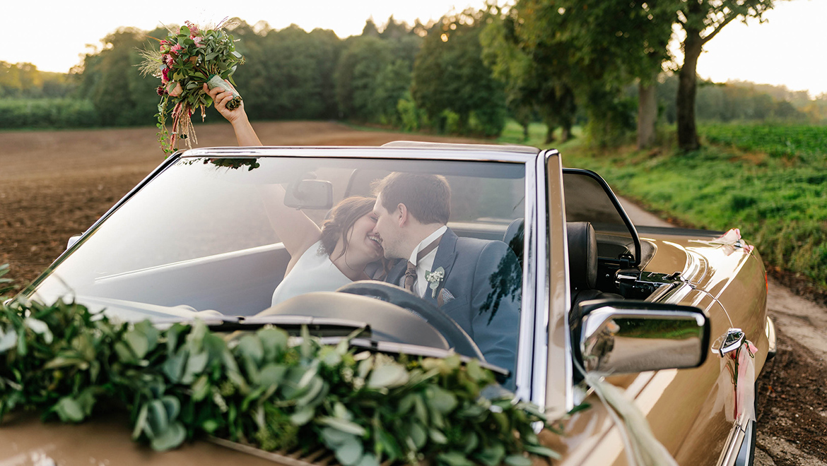
[[[677,85],[677,145],[681,150],[696,150],[698,131],[695,127],[695,94],[697,90],[698,57],[703,49],[700,31],[686,29],[683,41],[683,66],[678,74]]]

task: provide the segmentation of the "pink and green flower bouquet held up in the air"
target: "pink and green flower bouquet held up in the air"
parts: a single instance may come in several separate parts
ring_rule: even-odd
[[[238,64],[244,63],[244,57],[236,51],[235,41],[227,31],[222,30],[222,23],[213,29],[201,29],[189,21],[184,22],[177,32],[171,31],[160,46],[155,49],[141,50],[141,74],[151,74],[160,78],[161,85],[157,92],[158,104],[158,140],[161,150],[170,155],[176,149],[178,140],[184,140],[191,148],[195,138],[192,116],[198,108],[201,120],[205,116],[205,107],[213,99],[203,91],[203,84],[209,88],[222,88],[233,94],[227,104],[230,110],[241,105],[241,95],[224,79],[231,83],[232,74]],[[166,117],[172,114],[172,134],[166,129]]]

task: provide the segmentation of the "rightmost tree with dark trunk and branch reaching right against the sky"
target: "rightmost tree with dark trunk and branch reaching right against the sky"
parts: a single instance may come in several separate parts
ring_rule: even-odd
[[[684,59],[678,73],[677,142],[681,150],[700,146],[695,125],[698,57],[704,45],[736,18],[758,18],[772,9],[775,0],[676,0],[677,23],[686,33],[681,43]]]

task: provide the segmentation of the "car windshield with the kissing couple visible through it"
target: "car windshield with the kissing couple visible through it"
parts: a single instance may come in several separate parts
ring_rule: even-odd
[[[503,325],[497,316],[519,325],[509,309],[519,312],[524,177],[505,162],[185,157],[85,235],[34,297],[126,318],[253,316],[370,279],[408,287],[477,340]],[[383,182],[393,186],[377,206]],[[409,259],[419,264],[406,278]]]

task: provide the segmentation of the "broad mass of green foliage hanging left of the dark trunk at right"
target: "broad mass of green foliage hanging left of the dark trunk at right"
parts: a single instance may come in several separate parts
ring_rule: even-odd
[[[665,5],[519,0],[496,15],[484,43],[500,75],[507,69],[509,79],[517,80],[512,102],[545,96],[539,105],[547,112],[549,131],[559,124],[566,134],[574,123],[576,97],[588,114],[590,139],[610,145],[634,127],[625,86],[635,79],[653,83],[670,59],[666,45],[675,12]],[[555,114],[564,116],[562,121],[555,122]]]

